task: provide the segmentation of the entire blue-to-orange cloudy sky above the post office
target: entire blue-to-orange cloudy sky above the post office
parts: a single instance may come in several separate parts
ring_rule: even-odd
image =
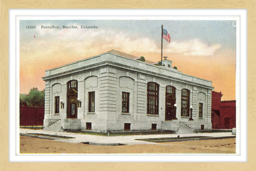
[[[236,99],[236,21],[232,20],[20,20],[20,93],[43,90],[45,70],[117,50],[150,61],[163,56],[184,74],[212,81],[222,100]],[[78,29],[64,29],[63,26]],[[36,29],[27,29],[36,26]],[[59,29],[41,28],[58,26]],[[96,26],[82,29],[81,26]]]

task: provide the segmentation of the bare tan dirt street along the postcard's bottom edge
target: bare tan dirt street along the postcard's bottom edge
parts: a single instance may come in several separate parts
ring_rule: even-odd
[[[100,146],[20,136],[20,153],[236,153],[236,138],[165,142],[157,145]]]

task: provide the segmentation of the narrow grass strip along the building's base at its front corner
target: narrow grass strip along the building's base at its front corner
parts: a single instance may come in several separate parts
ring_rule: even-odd
[[[89,134],[89,135],[100,135],[100,136],[108,136],[108,133],[103,132],[89,132],[89,131],[67,131],[76,134]],[[158,134],[173,134],[172,132],[109,132],[109,136],[128,136],[128,135],[158,135]]]

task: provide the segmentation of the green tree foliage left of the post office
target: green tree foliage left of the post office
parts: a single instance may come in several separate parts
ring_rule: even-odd
[[[37,87],[33,87],[29,94],[20,94],[20,103],[30,107],[45,107],[45,89],[39,91]]]

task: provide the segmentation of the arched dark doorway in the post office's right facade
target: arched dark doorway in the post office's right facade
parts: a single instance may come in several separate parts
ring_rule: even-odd
[[[166,86],[165,91],[165,121],[176,119],[176,111],[174,104],[176,103],[176,88],[174,86]]]

